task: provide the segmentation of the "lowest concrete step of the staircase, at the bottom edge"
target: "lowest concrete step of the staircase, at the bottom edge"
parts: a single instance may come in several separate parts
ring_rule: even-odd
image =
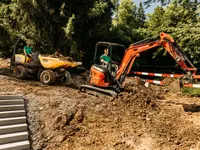
[[[30,149],[29,141],[21,141],[0,145],[0,150],[28,150]]]

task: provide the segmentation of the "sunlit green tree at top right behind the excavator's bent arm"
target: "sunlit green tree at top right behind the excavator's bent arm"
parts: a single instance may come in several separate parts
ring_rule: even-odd
[[[148,35],[156,35],[160,32],[171,34],[182,50],[193,60],[199,63],[199,8],[194,1],[177,0],[169,4],[165,9],[157,7],[153,14],[149,15],[146,23]]]

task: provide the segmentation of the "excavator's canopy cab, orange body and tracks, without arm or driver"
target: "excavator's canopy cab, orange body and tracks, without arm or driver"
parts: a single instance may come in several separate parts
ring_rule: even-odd
[[[110,60],[107,66],[101,64],[101,56],[104,49],[109,50]],[[125,53],[125,46],[117,43],[98,42],[95,46],[93,65],[90,69],[90,85],[81,85],[80,91],[98,91],[101,93],[116,96],[119,93],[116,76],[118,66],[121,64]],[[116,85],[116,88],[115,88]]]

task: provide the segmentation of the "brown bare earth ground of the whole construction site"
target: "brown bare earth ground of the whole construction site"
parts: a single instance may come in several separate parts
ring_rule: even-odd
[[[0,60],[1,74],[9,60]],[[80,93],[74,83],[44,85],[0,75],[0,94],[23,94],[34,150],[199,150],[200,98],[146,88],[129,77],[118,98]]]

